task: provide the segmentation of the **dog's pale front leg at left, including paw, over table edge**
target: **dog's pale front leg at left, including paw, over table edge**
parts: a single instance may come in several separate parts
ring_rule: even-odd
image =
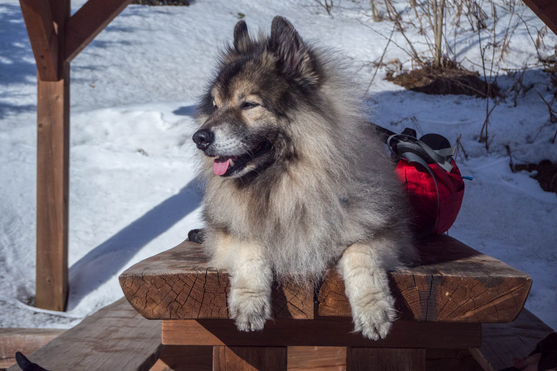
[[[241,331],[262,330],[271,315],[271,267],[261,245],[233,241],[228,306]]]

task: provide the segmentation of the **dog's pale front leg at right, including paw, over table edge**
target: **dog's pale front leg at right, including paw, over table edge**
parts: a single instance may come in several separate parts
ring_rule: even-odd
[[[378,340],[387,336],[397,312],[385,263],[375,247],[351,245],[339,260],[338,269],[352,309],[354,330]]]

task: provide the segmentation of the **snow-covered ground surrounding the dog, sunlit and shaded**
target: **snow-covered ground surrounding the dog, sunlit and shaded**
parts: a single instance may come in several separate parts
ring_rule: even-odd
[[[72,2],[73,10],[83,2]],[[360,22],[386,36],[392,23],[369,22],[353,2],[340,5],[333,17],[310,0],[129,6],[77,56],[71,65],[70,298],[68,311],[57,313],[27,305],[35,295],[36,69],[18,1],[0,0],[0,327],[75,325],[122,295],[117,278],[126,267],[180,243],[199,226],[191,115],[238,13],[252,31],[269,27],[276,14],[289,18],[302,37],[342,48],[369,81],[374,67],[367,62],[379,60],[387,40]],[[543,23],[522,3],[516,9],[535,38]],[[509,14],[498,14],[506,27]],[[504,35],[504,28],[496,31],[498,38]],[[407,36],[424,50],[417,32],[409,29]],[[398,33],[394,41],[404,44]],[[458,61],[480,63],[473,33],[459,33],[449,43]],[[549,32],[541,52],[550,55],[556,43]],[[491,56],[489,49],[486,54]],[[408,56],[391,44],[383,61],[395,58],[410,67]],[[496,65],[520,68],[535,61],[521,23]],[[506,91],[512,78],[500,73]],[[372,87],[375,122],[393,131],[409,126],[438,132],[453,144],[462,135],[469,157],[457,162],[474,180],[466,184],[449,234],[531,275],[526,308],[557,328],[557,196],[541,190],[529,173],[512,173],[506,149],[515,164],[557,161],[557,144],[550,144],[557,126],[544,126],[549,113],[536,93],[551,99],[548,77],[541,68],[526,71],[525,84],[535,86],[516,107],[506,100],[495,108],[486,151],[477,142],[485,100],[407,91],[384,76],[380,68]]]

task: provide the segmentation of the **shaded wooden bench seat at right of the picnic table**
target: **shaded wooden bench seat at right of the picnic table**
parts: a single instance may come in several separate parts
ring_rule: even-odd
[[[481,347],[470,349],[470,353],[486,371],[504,369],[512,366],[512,358],[526,357],[553,332],[534,314],[522,309],[511,323],[483,324]]]

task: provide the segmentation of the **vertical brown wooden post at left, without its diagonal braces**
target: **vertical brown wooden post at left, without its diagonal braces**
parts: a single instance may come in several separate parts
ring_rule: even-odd
[[[63,34],[70,1],[52,1],[51,9]],[[37,82],[36,305],[50,310],[65,310],[68,285],[70,65],[60,58],[63,47],[59,41],[59,80]]]

